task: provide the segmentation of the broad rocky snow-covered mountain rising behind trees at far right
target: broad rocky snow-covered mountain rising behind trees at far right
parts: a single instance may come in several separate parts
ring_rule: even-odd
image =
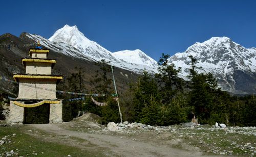
[[[182,75],[188,75],[190,59],[194,56],[204,72],[213,73],[223,90],[233,93],[256,91],[256,48],[245,48],[227,37],[212,37],[196,42],[183,53],[169,58],[170,63],[182,67]],[[203,72],[203,71],[201,71]]]

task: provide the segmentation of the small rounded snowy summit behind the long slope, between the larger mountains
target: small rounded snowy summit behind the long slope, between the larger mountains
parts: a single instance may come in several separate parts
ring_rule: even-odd
[[[140,49],[136,50],[121,50],[112,54],[114,57],[119,60],[126,61],[134,64],[142,64],[150,67],[157,67],[157,62],[148,57],[143,51]]]

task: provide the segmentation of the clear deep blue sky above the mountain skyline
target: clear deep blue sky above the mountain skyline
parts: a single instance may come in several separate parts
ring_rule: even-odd
[[[1,1],[0,35],[49,38],[65,24],[114,52],[141,49],[156,61],[195,42],[229,37],[256,47],[256,1]]]

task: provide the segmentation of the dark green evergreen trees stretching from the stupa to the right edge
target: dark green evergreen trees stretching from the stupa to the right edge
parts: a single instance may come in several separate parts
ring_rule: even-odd
[[[143,71],[138,80],[129,82],[130,89],[118,95],[123,121],[141,122],[149,125],[172,125],[190,122],[195,116],[200,124],[225,123],[237,126],[256,126],[256,98],[254,95],[237,96],[222,91],[217,79],[211,73],[199,73],[197,59],[190,58],[187,80],[178,77],[181,68],[169,64],[169,55],[162,54],[159,59],[159,73]],[[96,97],[108,106],[97,106],[86,97],[80,101],[64,102],[64,120],[77,116],[78,111],[97,114],[101,123],[120,122],[111,67],[101,60],[96,63],[100,70],[95,71],[90,83],[96,93],[105,94]],[[83,92],[82,69],[67,80],[73,92]],[[77,82],[78,80],[78,82]]]

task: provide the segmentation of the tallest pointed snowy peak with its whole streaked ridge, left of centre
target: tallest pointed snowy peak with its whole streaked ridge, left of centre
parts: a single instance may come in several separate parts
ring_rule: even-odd
[[[70,27],[65,25],[63,28],[57,30],[52,37],[46,39],[35,34],[25,34],[27,37],[34,41],[40,41],[41,45],[52,49],[56,52],[73,56],[77,58],[82,58],[90,61],[100,61],[104,59],[111,62],[112,65],[141,73],[144,69],[156,72],[156,67],[148,64],[148,60],[153,60],[152,58],[146,56],[142,51],[141,61],[138,63],[130,62],[132,59],[120,60],[117,56],[114,56],[111,51],[105,49],[104,47],[97,44],[95,41],[89,40],[85,37],[74,25]],[[128,55],[128,54],[126,54]],[[152,64],[154,65],[154,64]]]

